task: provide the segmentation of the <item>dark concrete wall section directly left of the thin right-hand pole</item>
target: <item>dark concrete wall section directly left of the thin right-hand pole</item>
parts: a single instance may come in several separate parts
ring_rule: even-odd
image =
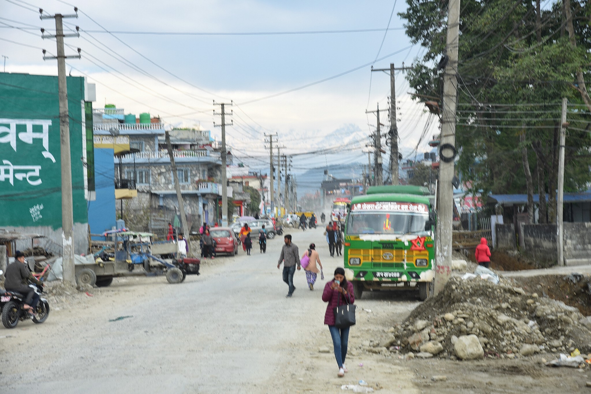
[[[521,224],[523,250],[532,259],[556,262],[556,224]]]

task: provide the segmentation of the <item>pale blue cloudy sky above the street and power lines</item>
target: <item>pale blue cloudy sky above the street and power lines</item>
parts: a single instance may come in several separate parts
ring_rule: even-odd
[[[365,163],[366,139],[376,126],[376,105],[388,108],[389,75],[371,72],[370,65],[326,82],[276,95],[374,63],[409,65],[423,53],[411,46],[397,13],[404,1],[76,1],[78,19],[64,19],[66,29],[78,25],[80,38],[66,38],[66,54],[82,49],[82,59],[68,59],[72,76],[96,83],[95,107],[105,103],[125,113],[150,112],[173,126],[210,129],[220,139],[216,102],[230,103],[226,112],[227,142],[239,161],[253,169],[268,168],[265,133],[277,134],[282,154],[294,155],[294,172],[326,164]],[[394,15],[389,22],[394,7]],[[0,0],[0,55],[6,71],[57,74],[55,61],[43,61],[40,48],[55,54],[56,44],[43,40],[37,27],[52,30],[44,14],[72,14],[73,7],[57,0]],[[92,19],[91,19],[92,18]],[[249,35],[108,34],[134,32],[301,32],[385,29],[371,32]],[[100,25],[100,26],[99,26]],[[21,29],[15,28],[20,27]],[[31,30],[26,30],[30,28]],[[104,28],[104,29],[103,29]],[[25,29],[25,30],[23,30]],[[383,43],[382,43],[383,42]],[[21,44],[31,45],[34,48]],[[4,60],[4,58],[2,58]],[[404,75],[396,77],[398,131],[401,151],[412,154],[426,132],[418,153],[430,150],[437,132],[435,119],[427,130],[424,106],[414,103]],[[257,101],[253,101],[257,100]],[[253,101],[253,102],[251,102]],[[387,129],[387,112],[381,113]],[[386,130],[387,131],[387,130]],[[383,144],[384,142],[382,142]],[[326,154],[308,154],[326,149]],[[384,147],[388,149],[387,147]],[[384,162],[387,162],[387,157]],[[301,180],[298,180],[301,182]]]

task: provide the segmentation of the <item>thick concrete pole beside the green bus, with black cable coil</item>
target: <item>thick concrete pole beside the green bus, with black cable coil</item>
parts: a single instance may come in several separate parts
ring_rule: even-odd
[[[457,48],[459,43],[460,0],[450,0],[447,15],[447,64],[443,75],[443,112],[439,165],[439,209],[435,292],[441,291],[452,273],[452,220],[454,158],[456,156]]]

